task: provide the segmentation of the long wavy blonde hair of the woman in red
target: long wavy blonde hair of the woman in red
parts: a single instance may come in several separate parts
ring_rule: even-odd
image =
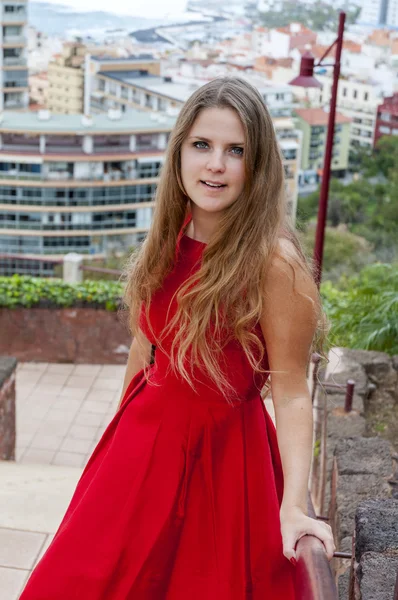
[[[173,267],[178,235],[189,212],[181,179],[181,146],[200,111],[207,108],[232,109],[242,122],[244,189],[224,210],[217,232],[204,248],[200,268],[176,292],[175,315],[155,339],[162,348],[162,339],[175,329],[169,355],[173,372],[195,389],[194,367],[200,365],[228,397],[233,390],[221,358],[229,340],[241,344],[254,371],[265,372],[264,347],[253,328],[262,313],[266,267],[281,237],[293,242],[300,266],[312,276],[310,261],[286,217],[284,168],[272,119],[259,92],[244,79],[214,79],[182,107],[168,142],[150,231],[127,269],[125,303],[131,332],[143,347],[138,326],[142,304],[149,321],[152,296]],[[325,319],[318,300],[313,350],[319,352]]]

